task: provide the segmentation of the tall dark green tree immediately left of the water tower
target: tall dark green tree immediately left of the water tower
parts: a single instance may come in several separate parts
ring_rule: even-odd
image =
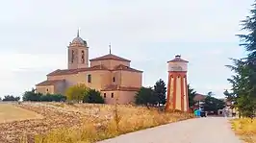
[[[154,94],[158,97],[158,105],[166,104],[166,83],[160,79],[154,85]]]

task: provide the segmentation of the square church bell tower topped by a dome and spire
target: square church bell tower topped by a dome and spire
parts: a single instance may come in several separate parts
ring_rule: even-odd
[[[89,67],[89,47],[87,41],[77,36],[69,43],[68,46],[68,69]]]

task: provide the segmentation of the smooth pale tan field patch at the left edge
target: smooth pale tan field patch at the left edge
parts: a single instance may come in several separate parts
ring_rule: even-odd
[[[12,104],[0,104],[0,123],[38,119],[41,115],[21,107],[15,107]]]

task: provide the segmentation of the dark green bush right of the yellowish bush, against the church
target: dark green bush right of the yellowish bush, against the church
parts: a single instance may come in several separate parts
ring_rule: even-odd
[[[88,94],[84,96],[83,103],[104,104],[104,99],[99,91],[89,89]]]

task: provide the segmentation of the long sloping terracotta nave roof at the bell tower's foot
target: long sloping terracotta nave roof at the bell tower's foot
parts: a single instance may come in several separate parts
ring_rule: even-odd
[[[51,73],[49,73],[47,76],[61,76],[61,75],[70,75],[70,74],[77,74],[79,72],[83,71],[91,71],[91,70],[109,70],[104,65],[95,65],[92,67],[87,68],[77,68],[77,69],[57,69]]]

